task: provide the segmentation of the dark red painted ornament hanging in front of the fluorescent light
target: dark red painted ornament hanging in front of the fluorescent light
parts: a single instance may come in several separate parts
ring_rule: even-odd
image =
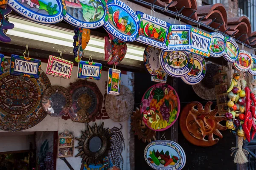
[[[125,54],[127,52],[127,45],[126,42],[123,42],[121,40],[118,40],[116,37],[113,37],[111,34],[108,33],[108,36],[111,40],[108,39],[108,37],[104,37],[105,39],[105,60],[108,60],[108,64],[112,65],[118,65],[122,60],[125,58]]]

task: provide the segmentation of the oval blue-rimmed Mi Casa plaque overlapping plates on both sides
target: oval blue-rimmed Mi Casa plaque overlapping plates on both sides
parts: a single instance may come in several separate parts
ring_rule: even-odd
[[[193,55],[187,51],[162,51],[159,60],[163,71],[172,77],[185,76],[194,64]]]

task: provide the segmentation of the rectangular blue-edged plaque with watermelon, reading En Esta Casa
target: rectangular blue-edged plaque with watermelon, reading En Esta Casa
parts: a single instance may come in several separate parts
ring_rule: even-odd
[[[140,11],[136,11],[136,14],[140,20],[140,37],[136,41],[166,50],[169,43],[167,34],[170,24]]]

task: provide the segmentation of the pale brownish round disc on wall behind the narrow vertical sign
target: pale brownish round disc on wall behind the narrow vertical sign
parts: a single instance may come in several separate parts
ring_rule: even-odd
[[[110,119],[123,122],[129,119],[134,108],[133,93],[124,85],[120,85],[119,95],[107,95],[105,108]]]

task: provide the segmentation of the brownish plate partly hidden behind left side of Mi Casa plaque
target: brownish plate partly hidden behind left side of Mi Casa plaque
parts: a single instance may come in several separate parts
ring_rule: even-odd
[[[162,72],[162,68],[159,62],[159,55],[161,50],[151,46],[147,46],[144,51],[144,64],[148,70],[148,73],[152,76],[157,76]]]

